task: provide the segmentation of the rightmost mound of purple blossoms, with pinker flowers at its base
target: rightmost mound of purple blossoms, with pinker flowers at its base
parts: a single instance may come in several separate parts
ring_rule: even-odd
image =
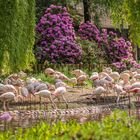
[[[117,69],[140,67],[134,60],[131,43],[122,37],[116,38],[116,34],[113,32],[108,35],[107,49],[112,63]]]

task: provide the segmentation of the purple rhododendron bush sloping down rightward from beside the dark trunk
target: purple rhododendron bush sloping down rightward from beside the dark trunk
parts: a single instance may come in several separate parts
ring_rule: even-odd
[[[117,37],[116,33],[107,33],[106,29],[100,31],[91,22],[82,23],[78,31],[81,39],[95,41],[98,47],[105,51],[105,58],[117,69],[126,69],[130,67],[140,68],[140,65],[134,60],[132,45],[122,37]]]

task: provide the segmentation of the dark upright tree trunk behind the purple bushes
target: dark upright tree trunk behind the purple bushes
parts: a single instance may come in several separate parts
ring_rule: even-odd
[[[91,21],[90,0],[83,0],[84,20]]]

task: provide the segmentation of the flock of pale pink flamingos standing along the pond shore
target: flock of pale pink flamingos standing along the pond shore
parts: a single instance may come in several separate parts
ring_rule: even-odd
[[[116,102],[120,101],[120,97],[132,95],[139,101],[140,97],[140,69],[131,68],[121,73],[113,71],[110,67],[104,68],[102,72],[93,72],[88,75],[80,69],[71,71],[73,78],[67,77],[65,74],[56,71],[52,68],[46,68],[44,74],[54,79],[54,84],[43,82],[41,79],[28,77],[26,73],[19,72],[12,74],[0,83],[0,101],[3,102],[3,110],[9,110],[10,101],[19,101],[29,99],[32,102],[33,98],[39,96],[46,101],[50,100],[52,107],[57,109],[55,103],[57,99],[63,99],[68,108],[68,102],[65,95],[68,90],[74,86],[83,87],[90,80],[93,83],[93,92],[90,98],[95,97],[100,100],[100,97],[112,94],[116,96]]]

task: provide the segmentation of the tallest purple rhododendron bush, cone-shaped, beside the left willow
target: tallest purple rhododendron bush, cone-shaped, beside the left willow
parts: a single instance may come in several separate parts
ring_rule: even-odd
[[[75,42],[72,19],[66,8],[51,5],[36,27],[37,43],[35,55],[39,61],[53,63],[76,63],[82,55]]]

